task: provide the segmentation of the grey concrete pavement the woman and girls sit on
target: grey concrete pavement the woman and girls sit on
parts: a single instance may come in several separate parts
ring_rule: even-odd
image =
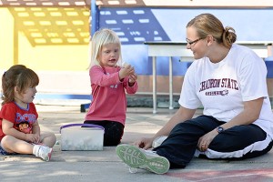
[[[79,106],[36,107],[41,129],[54,132],[59,143],[60,126],[84,121],[85,113],[80,113]],[[175,111],[158,108],[154,115],[152,108],[129,107],[122,143],[152,136]],[[115,150],[116,147],[104,147],[103,151],[61,151],[59,144],[49,162],[31,155],[0,156],[0,181],[273,181],[273,150],[263,157],[243,161],[194,158],[185,169],[171,169],[165,175],[141,169],[131,174]]]

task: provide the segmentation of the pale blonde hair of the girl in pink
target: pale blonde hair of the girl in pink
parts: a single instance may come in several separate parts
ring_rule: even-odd
[[[121,43],[113,30],[110,29],[101,29],[96,31],[96,33],[91,38],[91,61],[89,68],[91,66],[100,66],[100,61],[98,56],[102,50],[102,46],[108,44],[117,44],[119,51],[119,59],[116,63],[117,66],[122,66],[122,56],[121,56]]]

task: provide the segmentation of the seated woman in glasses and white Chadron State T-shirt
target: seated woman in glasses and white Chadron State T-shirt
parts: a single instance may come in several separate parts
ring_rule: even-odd
[[[214,15],[192,19],[187,48],[196,61],[187,70],[180,108],[155,136],[140,138],[136,147],[116,147],[118,157],[130,167],[164,174],[169,167],[186,167],[193,157],[243,159],[268,153],[273,115],[267,68],[251,49],[234,44],[236,39],[235,30],[224,28]],[[199,106],[204,113],[193,118]],[[145,149],[157,136],[167,139],[151,154]]]

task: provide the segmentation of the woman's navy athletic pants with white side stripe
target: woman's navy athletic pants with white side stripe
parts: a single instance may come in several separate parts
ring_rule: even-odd
[[[222,124],[224,122],[218,121],[212,116],[198,116],[179,123],[172,129],[162,145],[154,150],[159,156],[167,157],[171,168],[186,167],[195,155],[199,137]],[[255,147],[251,147],[254,143],[258,146],[257,150]],[[259,126],[251,124],[234,126],[221,132],[212,140],[207,150],[219,155],[218,158],[243,159],[268,153],[272,144],[266,132]],[[244,151],[243,154],[241,151]],[[221,156],[221,154],[223,155]],[[227,154],[228,157],[226,157]],[[217,158],[217,155],[214,158]]]

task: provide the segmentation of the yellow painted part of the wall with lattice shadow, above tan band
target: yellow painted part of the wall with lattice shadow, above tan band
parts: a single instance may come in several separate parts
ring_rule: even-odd
[[[35,71],[85,71],[89,65],[88,9],[3,7],[0,27],[0,70],[23,64]],[[46,43],[35,43],[39,37]],[[52,44],[52,38],[62,43]]]

